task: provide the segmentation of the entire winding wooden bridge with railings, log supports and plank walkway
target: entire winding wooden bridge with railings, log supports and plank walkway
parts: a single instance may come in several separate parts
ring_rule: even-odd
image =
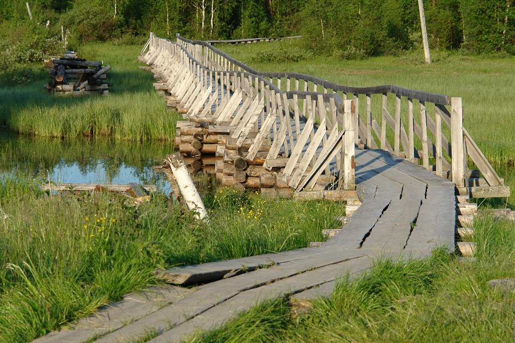
[[[178,123],[177,143],[192,170],[274,196],[339,192],[345,225],[309,248],[164,270],[167,283],[200,285],[129,295],[37,341],[129,341],[149,331],[156,337],[148,341],[177,341],[264,299],[328,295],[339,277],[356,277],[377,258],[455,249],[472,230],[469,197],[509,194],[464,128],[461,98],[263,73],[179,36],[151,33],[141,60],[188,119]]]

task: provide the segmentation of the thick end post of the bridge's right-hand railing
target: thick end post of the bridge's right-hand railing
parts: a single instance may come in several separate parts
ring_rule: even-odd
[[[463,149],[463,108],[461,98],[451,98],[452,180],[456,187],[465,187]]]

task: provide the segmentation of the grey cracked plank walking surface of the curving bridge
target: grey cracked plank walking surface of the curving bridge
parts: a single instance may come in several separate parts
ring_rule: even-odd
[[[159,310],[134,311],[133,317],[124,317],[125,326],[110,326],[109,316],[104,316],[101,327],[88,326],[91,318],[87,318],[74,324],[80,331],[63,329],[36,341],[82,342],[99,336],[92,339],[118,342],[142,337],[149,330],[160,333],[151,342],[177,341],[199,329],[220,327],[233,314],[264,299],[328,294],[337,278],[346,274],[356,277],[380,257],[423,257],[435,246],[454,249],[453,183],[381,150],[356,150],[355,161],[363,205],[321,247],[268,254],[261,260],[250,257],[185,267],[192,273],[216,273],[258,260],[271,264],[198,286],[174,299],[168,297]]]

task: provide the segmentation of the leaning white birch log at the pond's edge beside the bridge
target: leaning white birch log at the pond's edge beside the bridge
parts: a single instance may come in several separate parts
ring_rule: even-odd
[[[197,211],[195,218],[204,219],[205,216],[208,215],[208,212],[205,210],[202,198],[193,183],[190,173],[188,173],[188,169],[180,153],[168,155],[165,161],[170,165],[171,172],[177,180],[187,208],[192,211]]]

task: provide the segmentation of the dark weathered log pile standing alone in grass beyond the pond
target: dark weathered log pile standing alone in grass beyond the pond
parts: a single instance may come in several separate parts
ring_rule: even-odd
[[[44,86],[49,92],[62,95],[107,95],[112,83],[107,82],[110,65],[87,61],[67,51],[62,58],[53,59],[50,81]]]

